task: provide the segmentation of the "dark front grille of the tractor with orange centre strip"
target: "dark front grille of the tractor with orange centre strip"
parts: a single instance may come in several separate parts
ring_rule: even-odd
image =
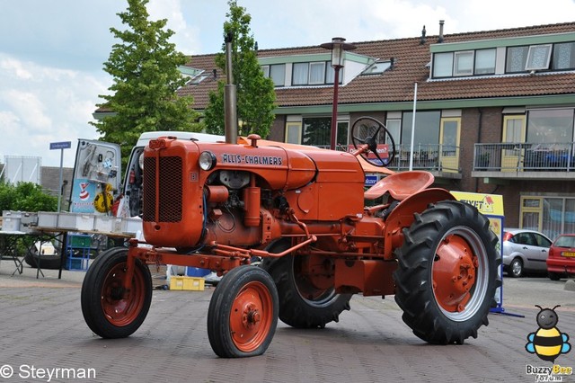
[[[155,157],[144,158],[142,218],[148,222],[179,222],[182,159],[179,156],[160,156],[157,159],[159,161]],[[157,217],[156,206],[159,208]]]

